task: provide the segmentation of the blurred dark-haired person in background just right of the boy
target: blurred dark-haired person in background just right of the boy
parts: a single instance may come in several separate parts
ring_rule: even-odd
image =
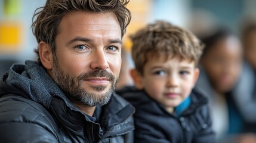
[[[201,39],[205,49],[195,88],[209,96],[217,142],[232,142],[231,137],[235,135],[239,135],[239,142],[243,142],[247,138],[240,134],[246,132],[246,122],[234,97],[242,73],[241,43],[227,29],[217,29]]]

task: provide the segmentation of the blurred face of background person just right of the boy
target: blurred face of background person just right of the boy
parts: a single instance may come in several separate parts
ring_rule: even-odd
[[[218,94],[230,91],[242,69],[242,48],[237,38],[229,36],[215,42],[201,59],[201,64]]]

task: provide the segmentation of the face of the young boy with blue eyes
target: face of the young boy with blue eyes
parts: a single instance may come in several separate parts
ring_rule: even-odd
[[[195,61],[181,60],[178,56],[166,60],[165,54],[160,54],[159,58],[147,61],[144,74],[137,81],[151,98],[172,112],[190,95],[198,75]]]

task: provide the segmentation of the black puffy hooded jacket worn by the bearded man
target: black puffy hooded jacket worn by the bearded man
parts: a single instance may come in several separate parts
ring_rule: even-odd
[[[0,142],[133,142],[133,113],[113,94],[87,116],[32,61],[14,65],[0,80]]]

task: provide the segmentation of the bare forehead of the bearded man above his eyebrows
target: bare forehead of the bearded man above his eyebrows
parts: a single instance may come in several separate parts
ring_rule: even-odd
[[[64,31],[63,31],[64,29]],[[121,27],[113,13],[90,13],[84,11],[75,11],[66,14],[61,20],[58,32],[83,33],[88,31],[94,32],[116,32],[121,35]]]

